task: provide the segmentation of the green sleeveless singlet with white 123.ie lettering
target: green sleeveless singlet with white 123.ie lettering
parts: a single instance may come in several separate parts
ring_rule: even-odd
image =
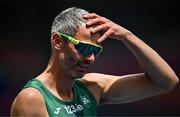
[[[37,79],[28,81],[24,88],[28,87],[36,88],[43,95],[49,116],[96,116],[96,99],[78,79],[74,81],[74,97],[72,101],[60,100]]]

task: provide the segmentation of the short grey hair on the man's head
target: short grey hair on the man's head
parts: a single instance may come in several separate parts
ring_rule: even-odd
[[[51,34],[55,32],[62,32],[71,36],[75,35],[80,26],[80,22],[88,21],[88,19],[83,18],[83,15],[88,13],[88,11],[76,7],[71,7],[62,11],[54,19]]]

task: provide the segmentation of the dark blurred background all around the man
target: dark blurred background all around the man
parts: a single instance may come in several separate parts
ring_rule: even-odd
[[[131,30],[154,48],[180,76],[180,4],[178,0],[1,0],[0,115],[9,115],[25,83],[40,74],[50,54],[53,18],[68,7],[81,7]],[[125,75],[141,72],[120,42],[108,39],[90,72]],[[180,88],[134,103],[100,106],[98,115],[180,115]]]

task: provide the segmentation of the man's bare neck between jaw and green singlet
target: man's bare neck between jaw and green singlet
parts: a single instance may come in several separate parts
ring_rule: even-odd
[[[57,56],[52,55],[46,70],[42,73],[44,84],[62,100],[73,99],[73,78],[68,74]]]

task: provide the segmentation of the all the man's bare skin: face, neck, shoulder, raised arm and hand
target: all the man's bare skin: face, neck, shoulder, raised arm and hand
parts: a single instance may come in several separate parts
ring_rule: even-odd
[[[56,97],[71,101],[73,81],[80,76],[98,104],[134,102],[168,92],[177,86],[179,79],[171,67],[132,32],[95,13],[87,14],[84,18],[92,20],[82,23],[74,38],[92,43],[100,43],[109,39],[107,37],[117,39],[136,56],[144,73],[125,76],[86,74],[86,69],[95,61],[94,54],[84,57],[72,43],[65,48],[63,39],[53,34],[54,53],[46,70],[37,79]],[[93,25],[97,27],[89,28]],[[48,116],[43,96],[33,88],[22,90],[13,102],[11,115]]]

